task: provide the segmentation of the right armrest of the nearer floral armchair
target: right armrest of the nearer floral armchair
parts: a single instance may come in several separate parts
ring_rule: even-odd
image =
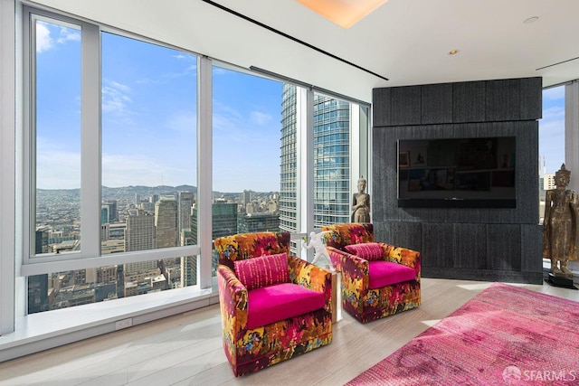
[[[319,268],[295,256],[288,256],[288,264],[289,280],[301,287],[323,292],[326,299],[326,308],[331,312],[332,274],[324,268]]]

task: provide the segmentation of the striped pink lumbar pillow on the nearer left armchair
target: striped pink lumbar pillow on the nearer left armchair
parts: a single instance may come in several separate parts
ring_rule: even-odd
[[[235,276],[248,291],[273,284],[289,283],[288,255],[285,252],[236,260],[234,265]]]

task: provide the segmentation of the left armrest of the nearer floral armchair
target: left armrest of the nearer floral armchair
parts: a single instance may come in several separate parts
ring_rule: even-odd
[[[233,270],[224,265],[217,267],[217,285],[223,331],[228,330],[228,334],[235,339],[235,333],[247,325],[247,288]]]

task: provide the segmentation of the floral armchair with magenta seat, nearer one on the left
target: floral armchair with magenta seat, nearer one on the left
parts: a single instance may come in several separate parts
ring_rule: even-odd
[[[214,240],[223,348],[235,376],[332,341],[331,274],[289,256],[289,233]]]

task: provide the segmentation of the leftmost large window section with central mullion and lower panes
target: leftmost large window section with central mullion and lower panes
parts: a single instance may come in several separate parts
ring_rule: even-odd
[[[27,312],[195,285],[196,255],[157,249],[194,245],[196,56],[33,10],[26,24],[25,260],[44,270]]]

